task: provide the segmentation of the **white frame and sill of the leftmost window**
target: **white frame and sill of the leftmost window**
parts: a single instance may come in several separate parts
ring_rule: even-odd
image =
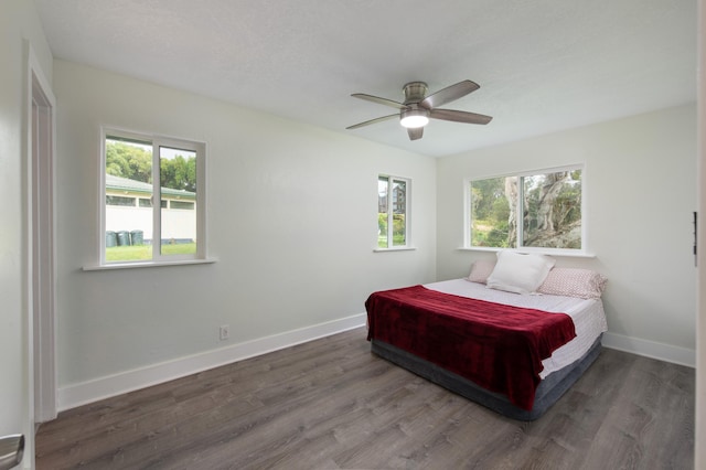
[[[153,201],[161,201],[160,188],[160,147],[169,147],[193,151],[196,153],[196,201],[194,210],[196,211],[196,252],[194,254],[182,255],[163,255],[162,246],[162,206],[161,204],[151,205],[152,210],[152,257],[146,260],[129,261],[106,261],[106,139],[111,137],[125,140],[135,140],[138,142],[151,142],[152,146],[152,197]],[[100,164],[99,164],[99,254],[98,264],[96,266],[84,267],[84,270],[94,269],[116,269],[132,267],[151,267],[168,265],[185,265],[214,263],[214,259],[207,257],[207,234],[206,234],[206,143],[203,141],[173,138],[154,133],[139,132],[132,130],[120,129],[116,127],[104,126],[100,129]],[[139,201],[138,201],[139,204]],[[157,241],[157,243],[154,243]]]

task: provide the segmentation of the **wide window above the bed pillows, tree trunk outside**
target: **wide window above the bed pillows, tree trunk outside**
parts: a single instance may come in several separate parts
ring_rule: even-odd
[[[466,245],[584,249],[581,175],[568,167],[468,181]]]

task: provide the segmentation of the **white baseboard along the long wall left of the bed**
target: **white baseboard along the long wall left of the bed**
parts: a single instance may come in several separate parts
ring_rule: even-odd
[[[208,368],[266,354],[365,325],[365,313],[221,348],[147,367],[126,371],[58,388],[58,410],[173,381]]]

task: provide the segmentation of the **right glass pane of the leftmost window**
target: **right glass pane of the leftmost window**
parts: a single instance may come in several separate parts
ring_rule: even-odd
[[[193,255],[196,253],[196,152],[160,147],[159,160],[161,254]],[[191,210],[184,210],[188,204]]]

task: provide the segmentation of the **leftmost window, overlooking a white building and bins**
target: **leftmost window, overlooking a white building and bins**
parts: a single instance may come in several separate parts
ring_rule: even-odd
[[[104,129],[103,162],[103,265],[205,258],[204,143]]]

